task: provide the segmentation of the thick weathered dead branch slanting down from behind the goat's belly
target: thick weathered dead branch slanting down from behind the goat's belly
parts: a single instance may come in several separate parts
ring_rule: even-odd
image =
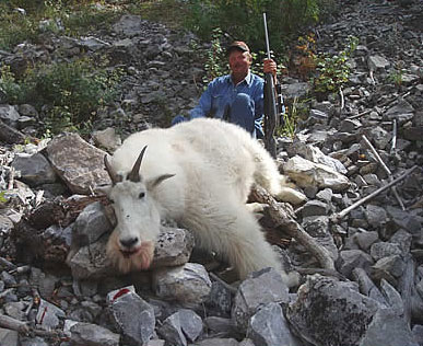
[[[270,218],[275,228],[282,228],[284,232],[306,247],[324,268],[334,270],[333,260],[328,251],[294,220],[295,215],[293,210],[283,208],[263,187],[257,184],[251,188],[251,197],[258,203],[269,206]]]

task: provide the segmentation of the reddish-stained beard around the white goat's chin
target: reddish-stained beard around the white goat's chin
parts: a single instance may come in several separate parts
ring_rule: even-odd
[[[145,241],[141,243],[141,249],[137,253],[125,256],[119,247],[119,238],[117,232],[113,232],[107,242],[107,255],[111,263],[122,274],[148,269],[153,262],[154,243]]]

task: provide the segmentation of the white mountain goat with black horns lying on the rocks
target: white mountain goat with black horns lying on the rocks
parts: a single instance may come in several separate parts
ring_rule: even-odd
[[[107,253],[120,272],[145,269],[161,220],[191,230],[196,245],[225,258],[245,278],[281,264],[246,201],[257,182],[283,200],[298,198],[250,135],[219,119],[200,118],[129,136],[111,159],[117,227]]]

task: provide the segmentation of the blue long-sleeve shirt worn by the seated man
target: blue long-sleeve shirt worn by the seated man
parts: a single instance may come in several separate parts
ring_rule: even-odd
[[[198,105],[190,111],[191,119],[204,116],[223,118],[225,109],[231,106],[238,93],[245,93],[255,103],[255,128],[262,134],[261,122],[263,118],[263,85],[265,80],[251,72],[237,85],[232,81],[231,74],[218,77],[211,81],[202,93]]]

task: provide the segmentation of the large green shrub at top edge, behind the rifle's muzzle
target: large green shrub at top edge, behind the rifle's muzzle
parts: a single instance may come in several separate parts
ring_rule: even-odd
[[[213,28],[221,27],[232,37],[248,42],[252,50],[259,50],[266,46],[266,12],[271,48],[283,51],[289,36],[316,23],[333,4],[334,0],[188,0],[187,25],[207,39]]]

